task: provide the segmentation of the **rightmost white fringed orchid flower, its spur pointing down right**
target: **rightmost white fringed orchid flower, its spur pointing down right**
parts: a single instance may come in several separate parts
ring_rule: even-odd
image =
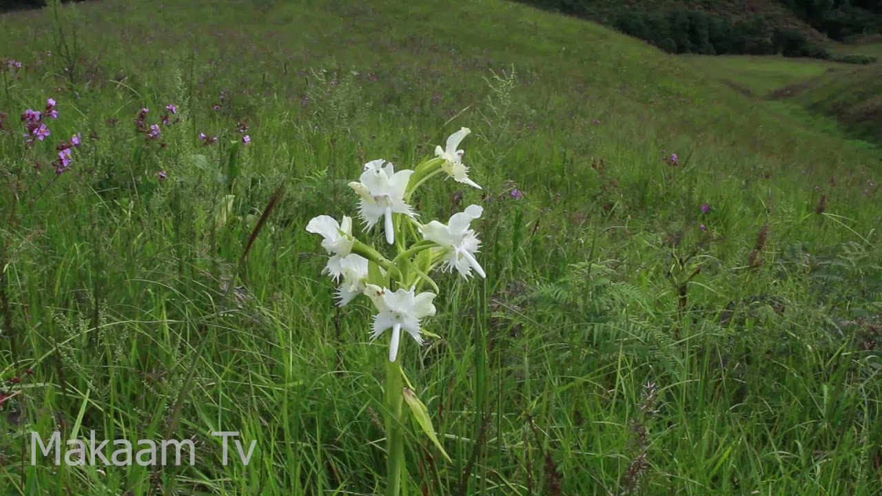
[[[469,224],[481,217],[483,211],[481,206],[469,205],[465,212],[452,214],[447,225],[432,221],[420,228],[422,237],[445,249],[445,272],[455,267],[463,277],[468,278],[474,268],[481,277],[487,277],[475,259],[481,241],[475,231],[469,228]]]

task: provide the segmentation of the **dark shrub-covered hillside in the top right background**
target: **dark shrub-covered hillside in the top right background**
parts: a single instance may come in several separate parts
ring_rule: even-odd
[[[878,0],[518,0],[591,19],[669,53],[839,59],[830,40],[882,33]]]

